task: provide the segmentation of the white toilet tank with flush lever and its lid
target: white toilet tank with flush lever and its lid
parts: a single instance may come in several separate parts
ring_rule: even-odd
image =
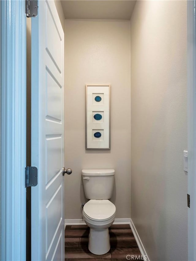
[[[88,199],[110,199],[114,187],[113,169],[82,170],[85,196]]]

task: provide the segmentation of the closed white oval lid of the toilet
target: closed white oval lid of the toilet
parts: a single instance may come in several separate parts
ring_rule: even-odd
[[[91,199],[84,205],[83,211],[90,219],[107,220],[115,214],[116,207],[107,199]]]

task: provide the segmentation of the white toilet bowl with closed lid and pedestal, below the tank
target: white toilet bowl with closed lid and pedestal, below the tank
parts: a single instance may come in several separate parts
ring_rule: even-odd
[[[89,232],[89,250],[93,254],[103,255],[110,250],[108,228],[115,220],[116,208],[109,200],[89,200],[83,208],[83,218]]]

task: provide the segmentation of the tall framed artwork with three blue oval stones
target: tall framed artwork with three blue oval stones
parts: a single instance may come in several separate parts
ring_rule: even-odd
[[[86,85],[86,149],[110,149],[110,85]]]

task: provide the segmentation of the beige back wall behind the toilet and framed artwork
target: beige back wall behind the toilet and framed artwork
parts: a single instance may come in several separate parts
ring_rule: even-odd
[[[66,219],[81,219],[81,170],[114,168],[116,218],[130,217],[130,21],[66,20]],[[85,150],[85,84],[111,84],[111,150]]]

